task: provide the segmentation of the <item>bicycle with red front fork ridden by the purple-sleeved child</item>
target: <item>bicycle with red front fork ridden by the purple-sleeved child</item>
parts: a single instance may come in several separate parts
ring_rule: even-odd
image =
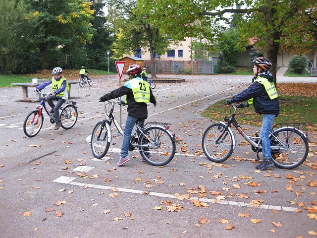
[[[40,132],[44,121],[43,109],[49,115],[51,123],[55,123],[54,113],[49,112],[44,101],[45,97],[52,95],[52,93],[42,93],[40,91],[37,91],[37,93],[41,96],[40,104],[26,116],[23,123],[24,134],[28,137],[36,136]],[[77,121],[78,112],[75,105],[76,102],[65,102],[59,109],[61,127],[66,130],[72,128]]]

